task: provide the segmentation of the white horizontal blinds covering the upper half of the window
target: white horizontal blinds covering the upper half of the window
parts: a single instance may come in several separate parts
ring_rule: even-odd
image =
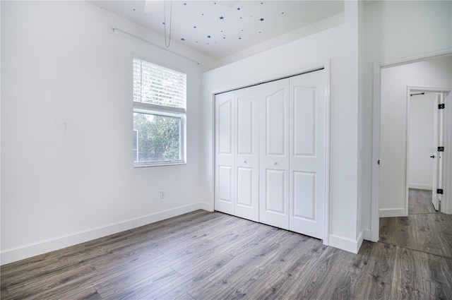
[[[133,101],[185,112],[186,74],[133,59]]]

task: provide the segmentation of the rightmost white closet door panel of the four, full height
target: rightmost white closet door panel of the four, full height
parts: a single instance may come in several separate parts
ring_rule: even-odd
[[[326,72],[290,78],[290,230],[323,239]]]

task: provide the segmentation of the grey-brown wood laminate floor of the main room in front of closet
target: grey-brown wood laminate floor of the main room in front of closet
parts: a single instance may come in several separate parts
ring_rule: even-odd
[[[452,259],[198,210],[4,265],[1,299],[452,299]]]

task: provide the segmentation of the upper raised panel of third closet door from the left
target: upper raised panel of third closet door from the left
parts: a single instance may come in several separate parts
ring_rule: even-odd
[[[266,97],[266,153],[285,155],[285,90]]]

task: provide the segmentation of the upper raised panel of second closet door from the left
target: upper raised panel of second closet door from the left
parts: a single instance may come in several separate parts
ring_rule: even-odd
[[[237,155],[252,155],[254,143],[254,103],[237,98]]]

